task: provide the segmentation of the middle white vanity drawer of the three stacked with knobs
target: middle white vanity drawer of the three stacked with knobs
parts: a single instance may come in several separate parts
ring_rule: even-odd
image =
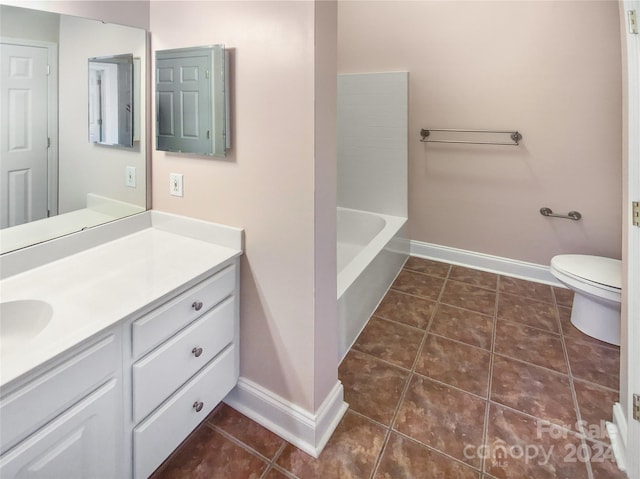
[[[233,341],[234,297],[228,297],[133,365],[133,417],[138,422]]]

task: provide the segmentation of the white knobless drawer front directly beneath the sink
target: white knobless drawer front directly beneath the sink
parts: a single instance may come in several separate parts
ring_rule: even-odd
[[[110,334],[67,355],[17,391],[0,398],[0,452],[42,427],[108,378],[120,377],[120,338]]]

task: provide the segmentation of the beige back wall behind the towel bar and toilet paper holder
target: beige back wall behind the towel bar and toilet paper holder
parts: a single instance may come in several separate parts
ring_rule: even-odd
[[[615,1],[338,2],[340,73],[410,72],[411,239],[547,265],[620,258],[618,21]],[[524,139],[425,145],[421,128]]]

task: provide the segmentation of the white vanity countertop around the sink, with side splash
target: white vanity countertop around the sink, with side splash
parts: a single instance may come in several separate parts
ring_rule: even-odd
[[[145,214],[151,214],[147,212]],[[158,214],[158,213],[154,213]],[[215,243],[199,239],[196,229],[207,223],[173,215],[141,231],[15,274],[0,282],[0,300],[46,301],[53,308],[47,326],[24,344],[0,351],[0,385],[28,373],[96,333],[166,301],[167,295],[186,289],[209,272],[242,254],[242,230],[229,228],[240,238]],[[177,219],[177,222],[174,221]],[[177,224],[189,236],[168,231]],[[187,227],[185,228],[185,225]],[[223,236],[228,232],[223,231]],[[200,235],[202,236],[202,235]],[[204,236],[207,236],[205,234]],[[210,235],[211,236],[211,235]],[[1,331],[0,331],[1,333]]]

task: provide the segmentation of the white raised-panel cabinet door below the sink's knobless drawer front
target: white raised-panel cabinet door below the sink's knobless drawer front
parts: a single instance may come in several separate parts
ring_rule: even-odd
[[[119,404],[111,379],[0,458],[0,477],[124,477]]]

